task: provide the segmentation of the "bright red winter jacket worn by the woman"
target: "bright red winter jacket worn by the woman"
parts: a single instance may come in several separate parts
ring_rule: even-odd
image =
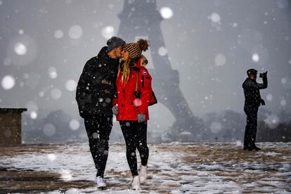
[[[139,59],[135,63],[135,66],[131,67],[129,81],[125,86],[122,83],[122,70],[120,70],[119,76],[117,77],[117,99],[113,101],[113,104],[118,105],[117,121],[137,121],[138,114],[144,114],[145,119],[149,119],[148,103],[153,95],[152,77],[145,67],[141,67],[140,62],[141,60]],[[137,90],[141,91],[140,98],[136,98],[134,95],[136,91],[136,81],[138,82]]]

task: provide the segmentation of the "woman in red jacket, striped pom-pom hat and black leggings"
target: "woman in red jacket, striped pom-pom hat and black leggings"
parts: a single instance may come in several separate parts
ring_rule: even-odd
[[[153,97],[152,77],[141,66],[141,52],[148,50],[148,46],[148,41],[144,39],[124,45],[116,82],[117,99],[112,108],[127,145],[127,162],[133,176],[133,189],[139,189],[140,183],[145,182],[148,163],[147,121],[148,105]],[[141,156],[139,176],[136,148]]]

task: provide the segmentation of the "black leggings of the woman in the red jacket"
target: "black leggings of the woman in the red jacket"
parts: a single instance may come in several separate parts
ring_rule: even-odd
[[[148,164],[147,127],[148,122],[120,121],[120,127],[127,145],[127,162],[132,176],[138,175],[136,148],[141,156],[141,164]]]

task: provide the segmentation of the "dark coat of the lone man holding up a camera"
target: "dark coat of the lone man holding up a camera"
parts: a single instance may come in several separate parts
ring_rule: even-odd
[[[263,84],[259,84],[255,79],[247,78],[243,82],[243,91],[245,93],[245,108],[259,108],[261,105],[260,89],[266,89],[268,86],[267,78],[263,78]]]

